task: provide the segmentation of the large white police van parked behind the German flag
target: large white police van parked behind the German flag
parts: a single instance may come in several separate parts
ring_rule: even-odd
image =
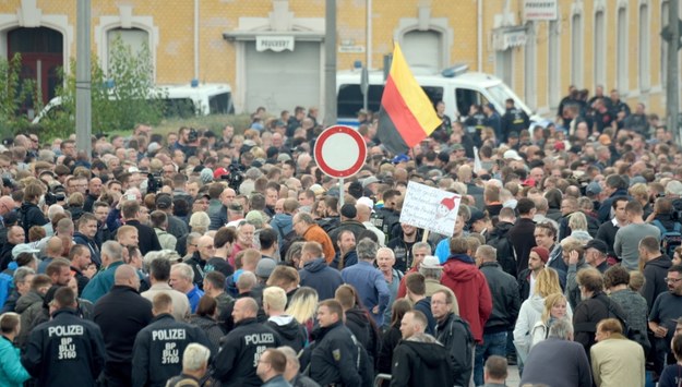
[[[384,74],[382,71],[370,71],[368,77],[368,109],[376,112],[384,90]],[[336,74],[336,113],[339,124],[358,125],[358,111],[363,106],[361,78],[362,71],[359,69]],[[440,74],[417,73],[415,78],[433,106],[439,100],[445,104],[445,114],[452,120],[468,116],[469,107],[474,104],[492,104],[500,114],[504,114],[507,98],[512,98],[514,105],[523,109],[531,121],[541,120],[502,80],[490,74],[466,72],[465,66],[459,66],[446,69]]]

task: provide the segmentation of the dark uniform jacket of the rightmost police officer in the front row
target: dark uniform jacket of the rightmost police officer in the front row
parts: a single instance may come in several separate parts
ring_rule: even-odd
[[[337,322],[313,330],[315,342],[310,358],[310,377],[320,386],[360,386],[358,349],[350,330]]]

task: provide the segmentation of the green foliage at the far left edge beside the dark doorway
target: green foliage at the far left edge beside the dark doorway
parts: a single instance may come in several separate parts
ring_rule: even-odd
[[[22,80],[20,72],[22,58],[15,53],[10,60],[0,59],[0,136],[13,136],[28,126],[28,118],[23,107],[33,105],[41,109],[36,82]],[[32,104],[33,100],[33,104]]]

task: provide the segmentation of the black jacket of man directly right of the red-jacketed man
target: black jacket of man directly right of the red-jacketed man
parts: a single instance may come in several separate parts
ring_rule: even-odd
[[[514,327],[521,309],[518,283],[496,262],[483,263],[480,270],[488,280],[492,297],[492,312],[486,322],[483,334],[507,331]]]

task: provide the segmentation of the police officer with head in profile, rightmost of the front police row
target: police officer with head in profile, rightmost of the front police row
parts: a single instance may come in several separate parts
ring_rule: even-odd
[[[336,300],[324,300],[318,306],[320,329],[313,331],[316,343],[310,360],[310,377],[321,386],[360,386],[358,351],[352,334],[343,322],[344,310]]]

